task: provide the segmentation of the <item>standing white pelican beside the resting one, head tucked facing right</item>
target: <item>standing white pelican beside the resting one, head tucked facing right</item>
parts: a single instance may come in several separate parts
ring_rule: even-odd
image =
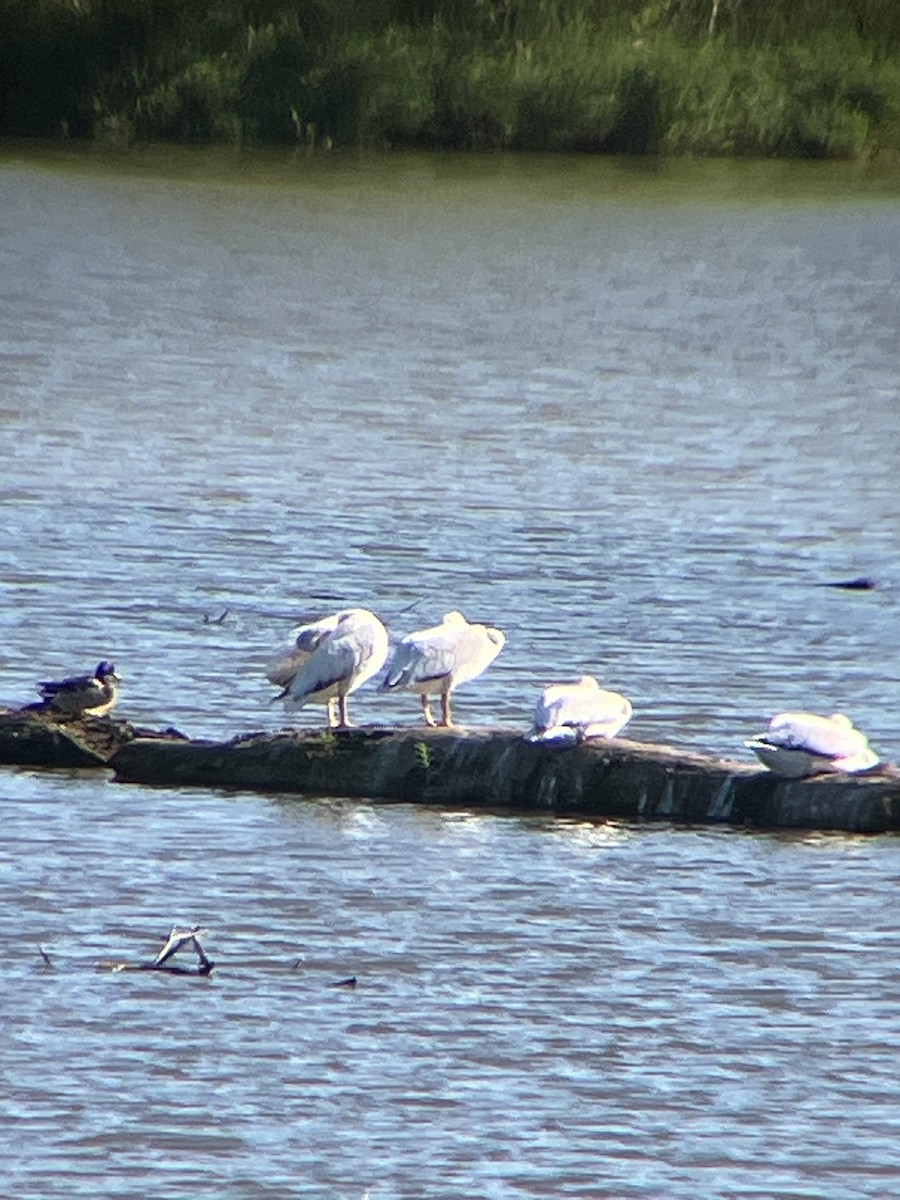
[[[461,612],[448,612],[443,624],[401,637],[382,691],[418,691],[426,725],[436,724],[428,695],[439,692],[440,724],[449,728],[450,692],[487,670],[505,641],[499,629],[469,624]]]

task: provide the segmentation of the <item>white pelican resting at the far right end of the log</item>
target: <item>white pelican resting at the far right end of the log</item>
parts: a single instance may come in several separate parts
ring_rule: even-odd
[[[800,779],[827,770],[868,770],[878,763],[869,739],[842,713],[778,713],[744,743],[776,775]]]

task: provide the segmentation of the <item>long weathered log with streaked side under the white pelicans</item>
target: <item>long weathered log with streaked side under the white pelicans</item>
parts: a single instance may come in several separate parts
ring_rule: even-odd
[[[499,730],[380,728],[134,738],[109,764],[121,782],[764,828],[900,828],[900,773],[890,768],[788,780],[746,762],[619,739],[553,746]]]

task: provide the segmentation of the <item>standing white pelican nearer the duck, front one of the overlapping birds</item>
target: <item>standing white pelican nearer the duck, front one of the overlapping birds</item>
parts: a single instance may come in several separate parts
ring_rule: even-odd
[[[329,624],[330,629],[322,628]],[[331,701],[337,700],[337,726],[347,728],[347,697],[384,666],[388,630],[367,608],[344,608],[306,629],[313,632],[302,644],[298,636],[298,650],[312,649],[278,698],[288,712],[310,701],[324,703],[329,727],[334,725]]]

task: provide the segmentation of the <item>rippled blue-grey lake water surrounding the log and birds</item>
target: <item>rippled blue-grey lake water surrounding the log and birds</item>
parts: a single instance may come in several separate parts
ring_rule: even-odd
[[[0,700],[112,658],[133,720],[275,730],[301,613],[456,607],[508,635],[461,722],[524,728],[590,672],[638,739],[740,756],[841,709],[896,757],[898,196],[851,166],[7,148]],[[0,798],[10,1194],[900,1174],[894,839],[78,773]],[[212,979],[94,970],[173,920]]]

